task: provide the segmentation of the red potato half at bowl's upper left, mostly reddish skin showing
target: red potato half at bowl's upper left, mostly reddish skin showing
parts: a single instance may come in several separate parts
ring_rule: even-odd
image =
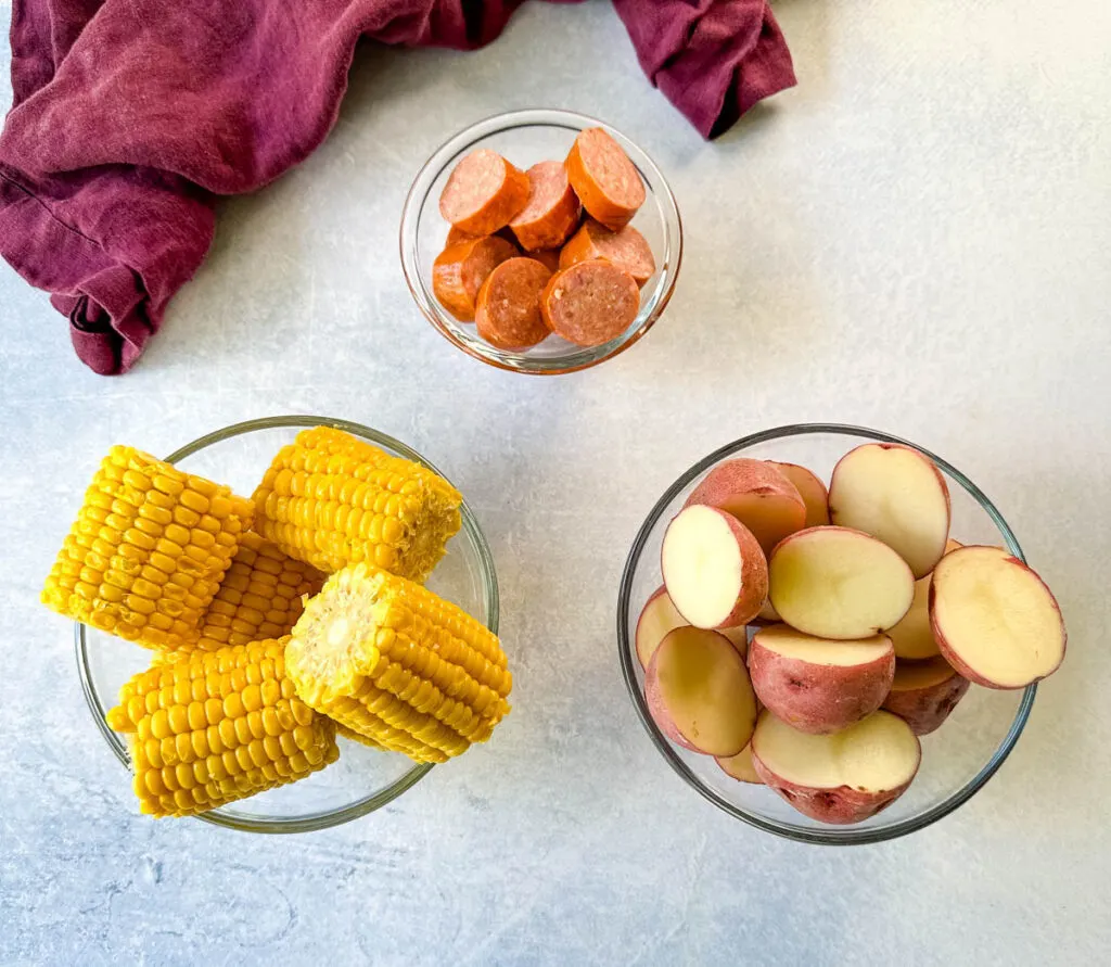
[[[687,498],[687,507],[717,507],[752,531],[764,556],[801,530],[807,506],[795,486],[764,460],[741,457],[714,467]]]

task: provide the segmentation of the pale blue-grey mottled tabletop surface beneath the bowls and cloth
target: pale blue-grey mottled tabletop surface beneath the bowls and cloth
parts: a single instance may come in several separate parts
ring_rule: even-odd
[[[128,377],[81,367],[46,296],[0,269],[0,964],[1105,960],[1111,8],[775,10],[800,87],[715,144],[648,87],[608,3],[529,4],[476,54],[361,50],[332,136],[221,206]],[[687,226],[657,329],[559,379],[458,353],[416,311],[396,239],[448,133],[541,104],[639,141]],[[153,823],[41,579],[109,445],[167,452],[277,412],[376,426],[462,487],[501,576],[514,712],[343,828]],[[793,845],[717,811],[651,747],[618,670],[618,578],[658,495],[795,420],[871,425],[967,469],[1071,632],[997,777],[882,846]]]

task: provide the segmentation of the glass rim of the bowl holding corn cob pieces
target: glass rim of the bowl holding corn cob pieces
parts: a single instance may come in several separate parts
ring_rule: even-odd
[[[219,443],[234,437],[256,432],[258,430],[283,428],[310,429],[319,426],[329,426],[340,430],[346,430],[352,436],[360,437],[374,443],[376,446],[391,450],[416,463],[420,463],[433,473],[443,477],[443,479],[448,480],[449,484],[451,482],[451,480],[446,477],[443,472],[440,471],[430,460],[418,453],[412,447],[401,442],[388,433],[383,433],[379,430],[374,430],[370,427],[363,426],[362,423],[352,422],[350,420],[308,415],[262,417],[259,419],[243,420],[238,423],[231,423],[222,429],[213,430],[210,433],[198,437],[196,440],[186,443],[183,447],[179,447],[166,458],[166,461],[168,463],[173,463],[178,460],[184,459],[186,457],[192,456],[193,453],[197,453],[213,443]],[[500,617],[500,597],[498,592],[498,572],[494,569],[493,554],[490,550],[490,545],[487,542],[486,535],[482,534],[482,529],[479,527],[478,519],[474,517],[473,511],[470,509],[466,500],[460,506],[459,511],[460,517],[462,518],[461,531],[466,532],[479,558],[479,568],[482,576],[482,594],[486,597],[486,610],[488,615],[486,624],[487,627],[494,635],[497,635]],[[92,684],[92,668],[89,664],[86,625],[80,621],[76,621],[73,624],[73,648],[74,657],[77,658],[78,675],[81,679],[81,690],[84,692],[89,712],[91,714],[93,721],[97,724],[97,728],[100,730],[104,741],[116,754],[116,758],[119,759],[123,767],[130,771],[131,761],[127,752],[127,747],[120,739],[119,735],[112,731],[108,727],[108,722],[104,720],[107,709],[103,708],[100,701],[100,696]],[[244,833],[264,833],[271,835],[310,833],[317,829],[329,829],[333,826],[341,826],[344,823],[350,823],[352,819],[358,819],[360,816],[366,816],[369,813],[373,813],[376,809],[380,809],[388,802],[392,802],[398,798],[398,796],[408,789],[411,789],[421,779],[423,779],[424,776],[431,771],[433,765],[433,762],[414,762],[410,769],[408,769],[399,779],[394,780],[389,786],[340,809],[319,810],[317,813],[309,813],[303,816],[289,818],[274,817],[264,819],[249,818],[239,815],[234,813],[236,804],[229,804],[229,806],[232,807],[232,811],[224,811],[228,807],[220,807],[211,813],[200,813],[190,818],[200,819],[204,823],[210,823],[213,826],[222,826],[228,829],[237,829]]]

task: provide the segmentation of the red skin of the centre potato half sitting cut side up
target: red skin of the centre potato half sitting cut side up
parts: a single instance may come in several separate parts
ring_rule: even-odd
[[[882,704],[895,674],[893,648],[863,665],[817,665],[749,645],[749,676],[757,698],[777,718],[813,735],[840,731]]]

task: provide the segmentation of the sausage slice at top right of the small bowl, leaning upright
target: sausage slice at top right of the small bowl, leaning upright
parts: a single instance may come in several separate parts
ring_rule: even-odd
[[[580,131],[563,166],[582,207],[608,229],[623,228],[644,203],[637,166],[602,128]]]

